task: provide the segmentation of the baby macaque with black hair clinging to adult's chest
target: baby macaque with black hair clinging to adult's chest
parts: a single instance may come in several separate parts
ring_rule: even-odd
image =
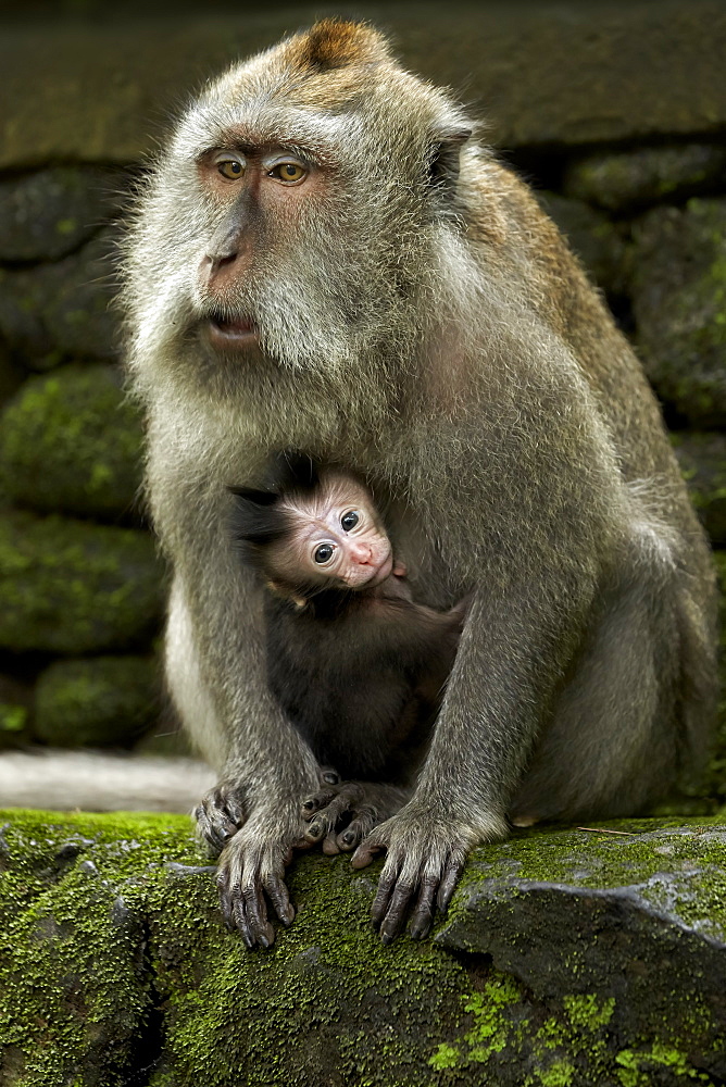
[[[448,612],[414,602],[373,496],[352,475],[306,457],[275,463],[270,489],[231,488],[233,536],[271,590],[271,690],[318,762],[346,778],[303,808],[308,840],[326,835],[326,852],[337,852],[405,801],[466,601]]]

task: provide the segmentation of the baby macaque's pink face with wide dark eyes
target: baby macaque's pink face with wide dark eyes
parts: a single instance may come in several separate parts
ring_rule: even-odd
[[[296,530],[271,557],[278,576],[368,589],[401,575],[368,491],[350,476],[327,472],[310,496],[291,495],[284,507]]]

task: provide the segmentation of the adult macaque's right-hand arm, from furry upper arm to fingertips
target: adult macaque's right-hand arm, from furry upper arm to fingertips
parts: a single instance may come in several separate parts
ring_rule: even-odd
[[[573,375],[579,392],[576,382]],[[476,588],[417,787],[353,854],[353,866],[362,867],[387,852],[373,905],[384,942],[409,912],[411,934],[425,935],[468,851],[506,835],[513,790],[581,641],[603,571],[617,563],[627,534],[606,437],[588,420],[585,397],[583,407],[566,388],[556,396],[569,434],[558,433],[541,408],[538,415],[523,391],[528,433],[504,434],[499,454],[497,447],[472,451],[461,441],[478,476],[456,464],[460,493],[421,517],[440,534],[447,554],[474,557],[478,574],[471,560],[458,569],[460,586]],[[481,465],[491,466],[486,475]],[[468,532],[475,507],[486,511],[478,541]]]

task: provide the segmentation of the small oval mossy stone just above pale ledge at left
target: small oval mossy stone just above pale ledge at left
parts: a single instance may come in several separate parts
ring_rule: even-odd
[[[129,744],[159,714],[159,699],[152,659],[55,661],[38,678],[34,732],[58,747]]]

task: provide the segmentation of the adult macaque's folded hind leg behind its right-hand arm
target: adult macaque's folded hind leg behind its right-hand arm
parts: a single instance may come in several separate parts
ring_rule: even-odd
[[[606,601],[514,796],[515,825],[631,815],[703,746],[713,650],[680,577],[641,575]]]

